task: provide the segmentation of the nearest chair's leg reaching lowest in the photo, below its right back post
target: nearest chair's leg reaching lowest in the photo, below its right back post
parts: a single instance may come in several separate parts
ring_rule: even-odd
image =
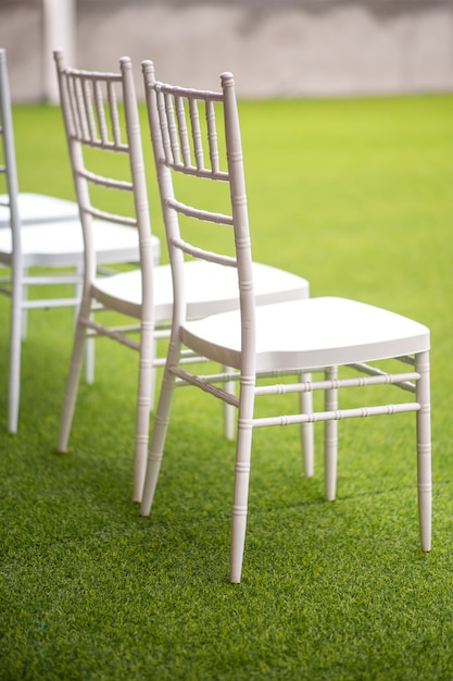
[[[229,579],[234,584],[241,581],[243,549],[246,545],[247,511],[249,499],[250,459],[252,451],[252,418],[254,408],[254,382],[240,385],[238,435],[236,443],[235,488],[231,515],[231,547]]]

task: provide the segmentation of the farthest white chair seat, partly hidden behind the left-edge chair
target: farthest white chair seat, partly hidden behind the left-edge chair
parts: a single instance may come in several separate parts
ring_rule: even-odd
[[[0,227],[10,224],[10,198],[0,194]],[[74,201],[45,194],[17,194],[17,208],[22,225],[49,222],[49,220],[78,220],[78,206]]]

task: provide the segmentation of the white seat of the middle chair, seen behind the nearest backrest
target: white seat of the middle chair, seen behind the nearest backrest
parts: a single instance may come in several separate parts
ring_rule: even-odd
[[[237,272],[212,262],[185,263],[187,314],[190,319],[239,307]],[[278,300],[302,300],[309,296],[306,280],[259,262],[253,263],[257,305]],[[173,310],[173,283],[169,264],[153,271],[155,319],[167,320]],[[140,318],[141,273],[139,270],[98,278],[97,299],[111,309]]]

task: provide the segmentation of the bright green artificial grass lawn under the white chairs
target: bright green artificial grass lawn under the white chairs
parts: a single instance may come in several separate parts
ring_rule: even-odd
[[[21,188],[72,197],[59,111],[14,119]],[[139,518],[136,357],[101,342],[58,455],[71,313],[36,313],[16,436],[0,393],[1,681],[453,678],[453,97],[248,101],[241,120],[255,259],[305,275],[313,295],[431,329],[432,552],[418,549],[413,417],[340,424],[334,504],[322,431],[306,480],[297,430],[268,429],[254,439],[243,581],[229,584],[234,446],[218,405],[177,393]],[[0,319],[5,386],[4,299]]]

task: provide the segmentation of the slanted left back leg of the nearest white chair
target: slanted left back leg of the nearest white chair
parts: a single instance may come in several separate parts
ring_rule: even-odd
[[[180,344],[176,344],[172,347],[171,342],[166,364],[168,366],[168,363],[177,363],[177,361],[175,361],[175,356],[177,360],[179,352]],[[143,494],[141,498],[140,516],[149,516],[151,511],[155,486],[158,484],[159,472],[161,469],[166,433],[168,430],[169,411],[172,407],[173,392],[175,388],[175,375],[168,371],[167,366],[165,366],[164,375],[161,384],[161,393],[159,396],[158,410],[154,418],[150,453],[148,456],[148,465],[144,476]]]

